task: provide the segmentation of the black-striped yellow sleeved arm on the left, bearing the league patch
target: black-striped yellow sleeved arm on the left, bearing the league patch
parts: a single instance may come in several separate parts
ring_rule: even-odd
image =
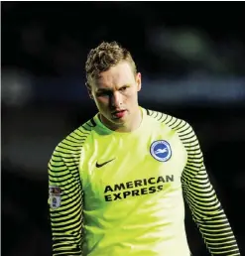
[[[57,147],[49,163],[53,256],[81,256],[82,191],[78,152]],[[66,147],[67,148],[67,147]]]

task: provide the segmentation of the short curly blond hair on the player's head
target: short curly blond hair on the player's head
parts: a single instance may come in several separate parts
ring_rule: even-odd
[[[99,46],[92,49],[85,64],[86,70],[86,85],[93,78],[98,78],[100,72],[108,70],[111,66],[126,61],[132,66],[133,72],[137,73],[136,64],[130,52],[122,48],[117,42],[102,42]]]

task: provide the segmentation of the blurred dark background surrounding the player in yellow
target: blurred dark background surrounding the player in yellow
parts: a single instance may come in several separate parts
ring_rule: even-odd
[[[118,41],[143,75],[142,106],[194,128],[245,255],[244,2],[1,2],[2,253],[49,256],[47,165],[96,113],[88,51]],[[186,209],[194,256],[209,255]],[[179,256],[179,255],[172,255]]]

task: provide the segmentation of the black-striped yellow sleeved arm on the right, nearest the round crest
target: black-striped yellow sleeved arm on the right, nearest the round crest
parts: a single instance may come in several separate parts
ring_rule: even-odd
[[[188,124],[180,137],[187,151],[182,176],[184,198],[211,255],[240,255],[229,221],[210,184],[198,140]]]

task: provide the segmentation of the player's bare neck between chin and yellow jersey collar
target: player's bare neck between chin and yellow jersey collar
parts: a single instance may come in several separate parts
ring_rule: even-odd
[[[132,116],[130,116],[130,120],[127,123],[124,123],[122,125],[114,124],[109,122],[104,116],[101,114],[99,115],[101,122],[107,126],[110,130],[121,132],[121,133],[127,133],[127,132],[133,132],[136,130],[143,119],[143,113],[141,109],[138,107],[137,111],[135,113],[132,113]]]

